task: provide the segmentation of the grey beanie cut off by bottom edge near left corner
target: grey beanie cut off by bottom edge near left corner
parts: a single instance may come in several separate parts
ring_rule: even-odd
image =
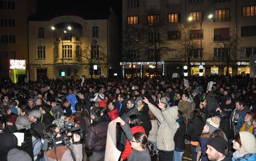
[[[17,148],[11,149],[7,154],[8,161],[32,161],[29,154],[25,151],[21,151]]]

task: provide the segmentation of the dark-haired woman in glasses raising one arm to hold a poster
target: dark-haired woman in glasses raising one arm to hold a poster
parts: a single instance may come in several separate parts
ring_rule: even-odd
[[[143,132],[136,132],[132,134],[130,127],[124,120],[120,117],[116,119],[116,123],[120,123],[121,127],[126,134],[128,140],[130,141],[130,147],[133,148],[132,154],[130,154],[128,161],[151,161],[151,157],[153,156],[153,147],[152,144],[148,141],[148,137]]]

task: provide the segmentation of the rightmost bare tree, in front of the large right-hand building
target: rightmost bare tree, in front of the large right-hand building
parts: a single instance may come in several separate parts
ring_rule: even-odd
[[[215,42],[216,46],[221,49],[221,54],[224,54],[224,57],[227,63],[227,70],[226,70],[227,76],[229,74],[228,68],[230,66],[231,60],[234,60],[235,62],[237,60],[237,50],[238,50],[237,41],[238,41],[238,38],[236,36],[236,31],[233,30],[230,33],[228,40],[221,40],[221,41]]]

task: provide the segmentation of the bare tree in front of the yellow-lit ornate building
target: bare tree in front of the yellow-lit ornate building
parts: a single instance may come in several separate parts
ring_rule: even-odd
[[[81,60],[83,65],[89,68],[92,78],[94,65],[106,65],[107,54],[104,48],[96,40],[89,40],[88,44],[82,48]]]

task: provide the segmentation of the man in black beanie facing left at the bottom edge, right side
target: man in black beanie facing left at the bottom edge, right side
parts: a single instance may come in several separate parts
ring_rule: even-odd
[[[213,137],[207,142],[206,154],[209,160],[231,161],[230,157],[225,156],[225,149],[228,147],[227,141],[223,137]]]

